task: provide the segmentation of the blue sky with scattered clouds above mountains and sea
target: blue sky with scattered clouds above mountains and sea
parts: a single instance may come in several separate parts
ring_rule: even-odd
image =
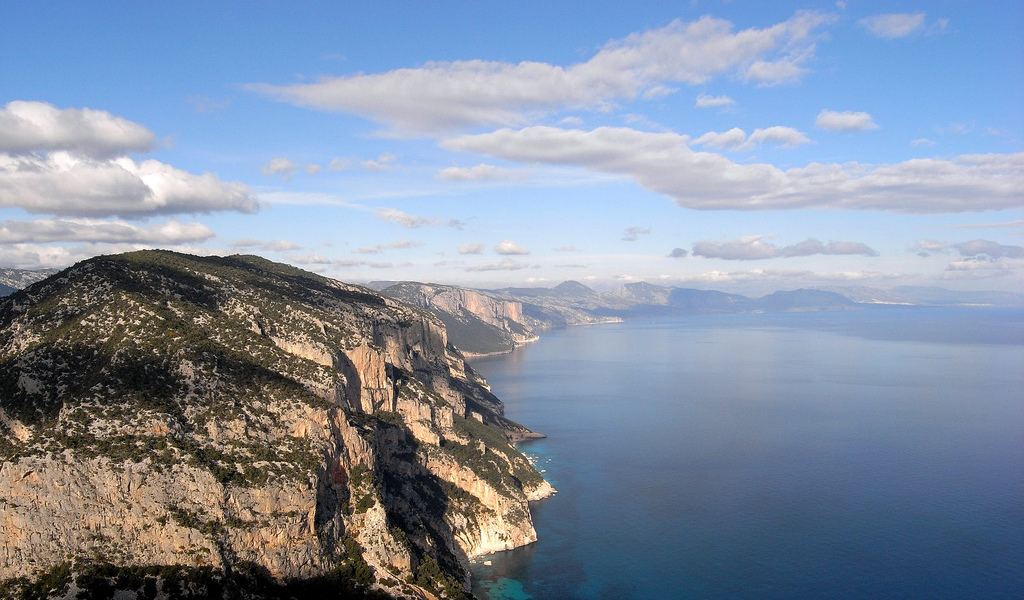
[[[4,2],[0,266],[1024,292],[1018,1]]]

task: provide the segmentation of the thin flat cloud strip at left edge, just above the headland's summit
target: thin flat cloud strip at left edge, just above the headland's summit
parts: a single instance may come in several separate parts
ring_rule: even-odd
[[[206,242],[213,237],[213,231],[202,223],[173,220],[148,227],[99,219],[0,221],[0,244],[88,242],[173,246]]]

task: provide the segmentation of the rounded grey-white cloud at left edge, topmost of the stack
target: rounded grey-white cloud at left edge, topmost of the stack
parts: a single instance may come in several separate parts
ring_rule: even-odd
[[[105,111],[14,100],[0,110],[0,153],[68,151],[93,159],[146,152],[153,132]]]

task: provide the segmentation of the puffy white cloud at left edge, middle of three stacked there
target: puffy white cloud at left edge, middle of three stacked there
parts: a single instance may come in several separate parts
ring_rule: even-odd
[[[256,212],[242,183],[193,175],[157,161],[95,160],[66,152],[0,154],[0,207],[63,216]]]

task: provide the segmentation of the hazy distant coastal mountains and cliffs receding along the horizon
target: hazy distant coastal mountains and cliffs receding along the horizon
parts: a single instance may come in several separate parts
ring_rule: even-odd
[[[508,352],[549,329],[642,316],[858,310],[878,305],[1024,306],[1024,294],[924,287],[801,289],[761,298],[647,283],[626,284],[604,293],[579,282],[501,290],[415,282],[377,282],[370,287],[437,314],[452,342],[469,354]]]

